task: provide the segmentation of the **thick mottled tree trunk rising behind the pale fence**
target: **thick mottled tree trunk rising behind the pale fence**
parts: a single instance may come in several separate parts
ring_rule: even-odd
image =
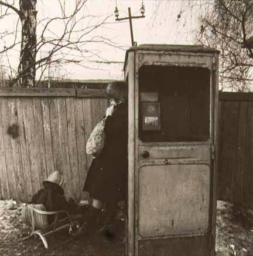
[[[35,86],[36,75],[36,24],[37,0],[19,0],[22,39],[20,50],[19,77],[21,87]]]

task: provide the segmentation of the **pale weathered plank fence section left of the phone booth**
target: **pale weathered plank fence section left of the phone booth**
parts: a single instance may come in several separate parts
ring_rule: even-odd
[[[86,141],[107,105],[102,90],[0,90],[0,198],[28,202],[54,170],[67,197],[86,198]]]

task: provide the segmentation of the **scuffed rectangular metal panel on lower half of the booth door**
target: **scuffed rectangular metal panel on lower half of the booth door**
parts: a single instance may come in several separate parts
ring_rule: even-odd
[[[209,201],[206,164],[143,166],[139,169],[139,235],[204,233]]]

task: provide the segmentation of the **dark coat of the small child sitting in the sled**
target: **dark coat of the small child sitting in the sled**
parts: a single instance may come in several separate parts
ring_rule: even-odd
[[[77,206],[73,201],[68,202],[64,197],[63,188],[56,183],[44,181],[42,188],[32,197],[30,203],[43,204],[47,211],[65,210],[69,214],[76,214]],[[67,217],[66,214],[59,214],[59,218]],[[54,220],[54,215],[49,215],[49,223]]]

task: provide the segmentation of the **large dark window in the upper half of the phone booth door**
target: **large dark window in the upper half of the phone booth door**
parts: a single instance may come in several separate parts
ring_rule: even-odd
[[[142,66],[139,69],[139,138],[142,142],[210,139],[210,71]]]

